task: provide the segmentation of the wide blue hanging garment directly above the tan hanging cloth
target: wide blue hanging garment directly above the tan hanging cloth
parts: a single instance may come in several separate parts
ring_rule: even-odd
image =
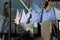
[[[51,10],[49,11],[46,11],[45,9],[43,10],[42,22],[49,20],[55,20],[55,14],[53,8],[51,8]]]

